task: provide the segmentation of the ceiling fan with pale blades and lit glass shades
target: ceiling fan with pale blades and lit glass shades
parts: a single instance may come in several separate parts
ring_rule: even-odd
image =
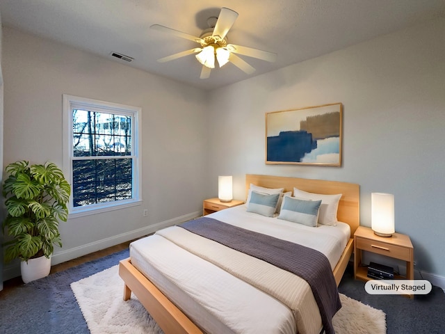
[[[165,63],[177,58],[195,54],[197,60],[202,64],[201,79],[207,79],[210,77],[212,68],[215,68],[215,58],[218,61],[219,67],[222,67],[228,62],[231,62],[236,67],[243,70],[247,74],[252,74],[255,69],[242,58],[236,54],[248,56],[252,58],[262,59],[273,63],[277,58],[277,54],[269,51],[262,51],[259,49],[252,49],[251,47],[241,47],[239,45],[227,44],[227,32],[232,28],[238,13],[229,8],[221,8],[220,15],[217,17],[209,17],[207,23],[210,28],[202,31],[200,37],[188,35],[175,29],[154,24],[150,26],[151,29],[162,31],[164,33],[170,33],[186,40],[192,40],[197,42],[201,47],[195,47],[186,51],[181,51],[171,56],[166,56],[158,59],[159,63]]]

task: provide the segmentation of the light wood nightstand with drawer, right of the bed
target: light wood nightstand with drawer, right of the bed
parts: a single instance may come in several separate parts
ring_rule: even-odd
[[[379,237],[371,228],[364,226],[357,228],[354,233],[354,277],[367,281],[371,278],[367,276],[366,267],[362,267],[362,250],[406,261],[406,278],[402,276],[394,278],[414,280],[414,248],[407,235],[394,233],[392,237]],[[413,298],[412,295],[409,296]]]

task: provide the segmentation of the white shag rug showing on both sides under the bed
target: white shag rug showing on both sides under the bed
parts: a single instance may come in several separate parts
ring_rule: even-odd
[[[91,334],[161,334],[163,331],[147,310],[131,294],[122,299],[124,282],[118,266],[71,283]],[[340,294],[341,309],[332,319],[337,334],[385,334],[386,320],[382,310],[371,308]]]

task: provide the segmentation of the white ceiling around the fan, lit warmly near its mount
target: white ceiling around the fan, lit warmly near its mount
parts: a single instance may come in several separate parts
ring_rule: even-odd
[[[200,79],[193,55],[156,59],[197,47],[195,42],[149,29],[161,24],[200,36],[221,7],[238,12],[230,43],[277,53],[268,63],[242,56],[257,70],[232,64]],[[213,89],[445,17],[445,0],[0,0],[4,26],[32,33],[150,73]],[[127,63],[111,52],[131,56]]]

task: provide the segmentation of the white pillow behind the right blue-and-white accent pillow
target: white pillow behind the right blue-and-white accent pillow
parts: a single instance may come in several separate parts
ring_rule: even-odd
[[[336,195],[323,195],[321,193],[308,193],[297,188],[293,188],[293,196],[302,200],[321,200],[318,223],[321,225],[337,225],[337,209],[341,193]]]

